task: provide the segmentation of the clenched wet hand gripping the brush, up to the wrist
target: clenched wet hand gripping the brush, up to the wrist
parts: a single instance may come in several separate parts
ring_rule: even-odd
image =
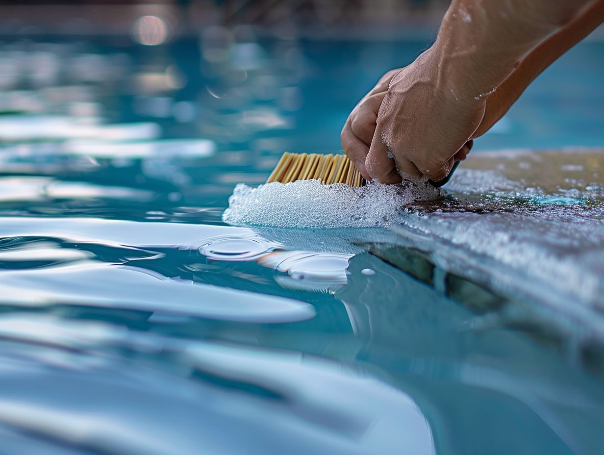
[[[397,183],[403,173],[439,181],[466,158],[486,97],[445,83],[439,68],[428,50],[385,74],[353,109],[342,146],[365,178]]]

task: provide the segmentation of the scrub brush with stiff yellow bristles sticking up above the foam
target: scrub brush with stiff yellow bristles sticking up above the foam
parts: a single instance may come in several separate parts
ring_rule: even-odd
[[[442,187],[451,179],[460,161],[456,161],[449,175],[437,182],[428,180],[434,187]],[[320,179],[324,185],[344,183],[362,187],[367,180],[346,155],[321,155],[320,153],[283,153],[277,167],[266,183],[288,183],[296,180]]]

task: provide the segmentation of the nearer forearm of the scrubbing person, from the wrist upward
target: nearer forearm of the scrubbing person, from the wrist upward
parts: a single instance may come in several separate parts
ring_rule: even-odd
[[[593,0],[453,0],[432,51],[439,89],[484,97]]]

